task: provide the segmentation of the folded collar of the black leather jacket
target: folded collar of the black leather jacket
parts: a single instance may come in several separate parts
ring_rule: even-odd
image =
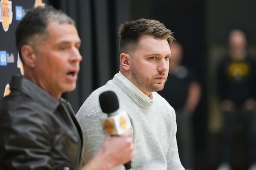
[[[21,91],[35,102],[41,103],[44,107],[52,111],[55,111],[60,104],[60,100],[56,100],[53,96],[47,93],[47,91],[44,91],[40,86],[21,75],[12,76],[10,89],[11,92],[12,90]]]

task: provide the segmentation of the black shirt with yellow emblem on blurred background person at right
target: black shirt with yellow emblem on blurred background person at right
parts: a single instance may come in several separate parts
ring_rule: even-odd
[[[246,57],[233,60],[226,56],[218,68],[218,95],[221,100],[230,99],[236,104],[256,98],[256,60]]]

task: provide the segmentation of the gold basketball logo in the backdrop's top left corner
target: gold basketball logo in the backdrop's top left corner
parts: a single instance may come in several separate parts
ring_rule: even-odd
[[[2,22],[3,30],[8,31],[12,23],[12,1],[0,0],[0,22]]]

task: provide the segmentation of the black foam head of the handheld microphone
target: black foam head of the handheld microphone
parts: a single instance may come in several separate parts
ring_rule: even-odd
[[[105,91],[99,95],[99,104],[104,113],[113,113],[119,108],[119,102],[113,91]]]

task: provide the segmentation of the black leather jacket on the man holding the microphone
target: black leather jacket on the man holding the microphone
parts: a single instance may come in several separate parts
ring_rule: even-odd
[[[77,170],[82,132],[69,102],[23,76],[0,100],[0,170]]]

